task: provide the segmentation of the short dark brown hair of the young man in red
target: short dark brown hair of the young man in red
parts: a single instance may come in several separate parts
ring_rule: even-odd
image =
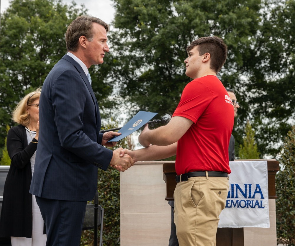
[[[218,73],[226,61],[226,44],[219,37],[201,37],[191,42],[191,44],[186,48],[187,53],[189,53],[197,45],[199,55],[204,55],[205,53],[210,54],[210,68]]]

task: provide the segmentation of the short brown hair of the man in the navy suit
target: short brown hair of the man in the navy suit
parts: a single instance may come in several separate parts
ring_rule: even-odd
[[[97,23],[109,31],[109,25],[106,24],[99,18],[81,15],[78,16],[72,23],[68,26],[65,32],[65,44],[67,46],[67,51],[76,52],[78,49],[78,40],[81,36],[85,36],[89,41],[93,38],[92,24]]]

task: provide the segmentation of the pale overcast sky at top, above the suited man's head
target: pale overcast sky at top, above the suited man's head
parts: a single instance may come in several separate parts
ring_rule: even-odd
[[[10,0],[1,1],[1,13],[9,6]],[[74,0],[78,6],[84,4],[88,9],[88,14],[102,19],[110,24],[114,18],[113,2],[111,0]],[[63,0],[65,4],[70,4],[72,0]]]

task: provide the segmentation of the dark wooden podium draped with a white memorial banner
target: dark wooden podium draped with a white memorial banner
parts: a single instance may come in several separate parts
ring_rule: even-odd
[[[251,160],[237,160],[251,161]],[[258,161],[258,160],[255,160]],[[280,169],[278,161],[267,160],[268,170],[268,198],[276,199],[276,173]],[[176,187],[175,163],[163,164],[163,179],[166,183],[165,200],[172,201]],[[244,246],[244,228],[218,228],[216,234],[216,246]]]

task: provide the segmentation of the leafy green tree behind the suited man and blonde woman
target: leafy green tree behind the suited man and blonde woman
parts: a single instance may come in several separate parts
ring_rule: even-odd
[[[55,63],[66,54],[65,32],[84,5],[61,0],[13,0],[1,13],[0,45],[0,147],[4,145],[5,125],[13,125],[11,112],[19,100],[43,84]],[[107,58],[106,58],[107,60]],[[108,100],[111,68],[92,66],[89,71],[101,109],[112,107]]]

